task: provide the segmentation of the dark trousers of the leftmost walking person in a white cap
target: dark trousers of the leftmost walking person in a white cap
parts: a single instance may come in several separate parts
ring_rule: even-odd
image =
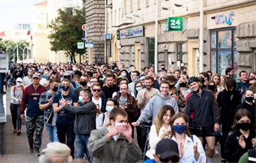
[[[21,130],[21,104],[11,103],[11,119],[14,125],[14,129],[17,128],[17,120],[18,120],[18,130]]]

